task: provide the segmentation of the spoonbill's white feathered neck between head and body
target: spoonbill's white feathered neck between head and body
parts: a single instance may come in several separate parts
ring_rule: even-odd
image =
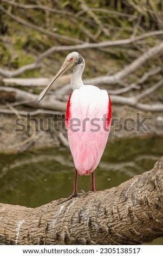
[[[73,76],[71,77],[71,88],[73,90],[79,89],[81,86],[84,85],[82,81],[82,74],[84,71],[84,67],[85,67],[85,63],[74,66]]]

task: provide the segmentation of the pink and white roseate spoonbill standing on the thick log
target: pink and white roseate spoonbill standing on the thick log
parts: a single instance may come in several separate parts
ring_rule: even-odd
[[[55,81],[68,69],[73,68],[71,77],[73,93],[69,96],[66,110],[68,141],[76,169],[72,195],[77,194],[78,173],[80,175],[92,173],[91,190],[95,191],[94,170],[105,150],[112,118],[112,103],[107,91],[83,84],[84,67],[83,57],[78,52],[71,52],[53,81],[38,97],[38,101],[41,101]]]

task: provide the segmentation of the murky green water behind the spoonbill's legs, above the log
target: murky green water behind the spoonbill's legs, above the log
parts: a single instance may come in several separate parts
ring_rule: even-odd
[[[163,138],[109,142],[95,171],[96,190],[153,168],[163,155]],[[45,149],[19,155],[0,155],[0,202],[36,207],[68,197],[74,186],[74,164],[69,150]],[[79,176],[79,190],[89,191],[90,176]],[[158,239],[155,244],[163,244]]]

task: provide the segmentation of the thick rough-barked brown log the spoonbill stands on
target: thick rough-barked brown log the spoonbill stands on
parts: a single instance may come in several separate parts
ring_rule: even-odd
[[[6,245],[138,245],[163,235],[163,157],[118,187],[31,209],[0,204]]]

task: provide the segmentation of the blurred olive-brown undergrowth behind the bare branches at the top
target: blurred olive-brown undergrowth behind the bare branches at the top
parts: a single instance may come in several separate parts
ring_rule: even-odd
[[[38,54],[52,46],[131,38],[162,29],[162,21],[161,0],[2,0],[0,66],[18,69],[34,62]],[[120,70],[156,41],[147,38],[130,47],[114,46],[96,52],[89,49],[89,53],[81,50],[83,57],[89,54],[85,76]],[[25,71],[21,77],[55,74],[67,53],[56,52],[44,59],[39,69]]]

